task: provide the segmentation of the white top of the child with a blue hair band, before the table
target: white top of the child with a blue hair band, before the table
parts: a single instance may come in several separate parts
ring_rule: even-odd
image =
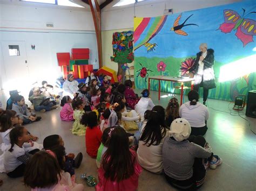
[[[144,114],[147,109],[152,109],[154,107],[154,103],[149,97],[140,98],[139,102],[135,105],[135,111],[140,115],[140,118],[144,120]]]

